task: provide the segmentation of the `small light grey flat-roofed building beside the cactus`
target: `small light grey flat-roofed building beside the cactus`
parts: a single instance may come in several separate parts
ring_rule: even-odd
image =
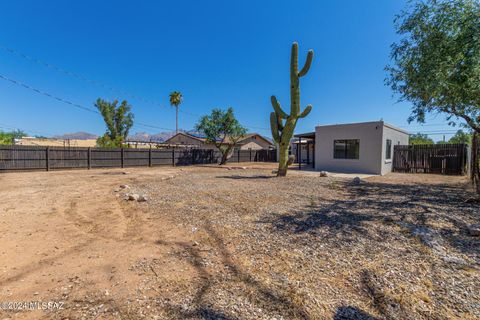
[[[318,126],[315,132],[295,137],[300,145],[310,141],[308,146],[314,146],[311,162],[315,170],[383,175],[392,171],[393,146],[408,145],[409,134],[374,121]]]

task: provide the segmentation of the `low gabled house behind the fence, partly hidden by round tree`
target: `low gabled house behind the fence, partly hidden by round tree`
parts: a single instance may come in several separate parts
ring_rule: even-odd
[[[207,142],[207,139],[204,137],[195,136],[185,132],[177,133],[170,139],[166,140],[165,143],[170,145],[189,146],[199,149],[216,149],[215,145]],[[249,133],[242,137],[237,142],[235,147],[242,150],[271,149],[273,148],[273,143],[258,133]]]

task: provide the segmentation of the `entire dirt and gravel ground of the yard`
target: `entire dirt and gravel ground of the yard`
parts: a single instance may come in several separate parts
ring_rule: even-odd
[[[0,319],[480,318],[465,178],[251,167],[0,175],[0,302],[64,302]]]

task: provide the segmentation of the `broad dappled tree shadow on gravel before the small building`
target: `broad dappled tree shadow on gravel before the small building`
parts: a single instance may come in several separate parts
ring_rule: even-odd
[[[408,222],[416,228],[432,229],[455,250],[480,256],[480,240],[469,236],[467,229],[471,223],[480,223],[480,205],[468,201],[473,194],[462,186],[364,182],[343,183],[337,188],[332,192],[343,193],[340,200],[318,199],[259,222],[283,234],[321,233],[345,242],[369,237],[365,222]],[[454,228],[432,227],[437,222]]]

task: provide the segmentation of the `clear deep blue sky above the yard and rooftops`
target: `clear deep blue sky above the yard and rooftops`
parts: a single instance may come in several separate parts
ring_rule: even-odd
[[[0,46],[126,92],[119,94],[0,50],[0,75],[74,103],[127,99],[136,120],[174,129],[168,94],[184,95],[180,127],[193,128],[212,108],[234,107],[250,131],[270,135],[270,95],[289,108],[290,45],[300,63],[302,106],[313,105],[296,132],[319,124],[383,118],[411,132],[448,127],[443,116],[407,126],[408,103],[384,85],[400,0],[345,1],[2,1]],[[143,99],[132,98],[130,95]],[[157,104],[147,102],[154,101]],[[440,124],[440,125],[439,125]],[[104,132],[98,114],[0,79],[0,127],[31,134]],[[135,132],[160,129],[135,126]],[[440,139],[442,136],[433,136]],[[448,138],[448,136],[447,136]]]

